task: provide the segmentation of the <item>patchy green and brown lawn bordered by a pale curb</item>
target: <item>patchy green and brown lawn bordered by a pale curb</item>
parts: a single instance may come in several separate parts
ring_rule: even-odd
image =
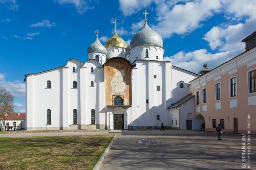
[[[0,138],[0,169],[93,169],[114,135]]]

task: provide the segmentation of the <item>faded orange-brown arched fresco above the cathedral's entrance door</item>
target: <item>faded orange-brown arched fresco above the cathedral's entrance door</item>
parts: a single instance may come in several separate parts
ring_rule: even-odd
[[[116,96],[123,98],[123,105],[132,104],[132,68],[121,58],[109,60],[104,66],[105,104],[113,105]]]

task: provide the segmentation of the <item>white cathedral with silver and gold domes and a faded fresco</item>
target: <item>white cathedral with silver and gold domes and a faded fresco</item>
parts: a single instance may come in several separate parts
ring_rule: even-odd
[[[179,127],[168,107],[199,75],[164,61],[163,40],[146,17],[128,47],[114,29],[104,46],[96,34],[86,62],[25,75],[27,130]]]

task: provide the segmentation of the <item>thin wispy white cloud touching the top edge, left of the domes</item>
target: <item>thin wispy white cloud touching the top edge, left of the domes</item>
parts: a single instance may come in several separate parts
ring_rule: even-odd
[[[81,15],[88,9],[93,9],[93,6],[87,5],[85,0],[54,0],[58,2],[60,5],[72,4],[75,6],[76,11]],[[97,2],[97,1],[96,1]]]

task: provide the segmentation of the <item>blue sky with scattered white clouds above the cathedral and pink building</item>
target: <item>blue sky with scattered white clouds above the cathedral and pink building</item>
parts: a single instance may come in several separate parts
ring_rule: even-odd
[[[0,0],[0,87],[25,112],[24,75],[85,62],[87,47],[117,34],[127,43],[148,25],[164,41],[164,59],[198,73],[244,51],[243,38],[256,30],[256,1],[247,0]],[[129,44],[128,44],[129,45]]]

